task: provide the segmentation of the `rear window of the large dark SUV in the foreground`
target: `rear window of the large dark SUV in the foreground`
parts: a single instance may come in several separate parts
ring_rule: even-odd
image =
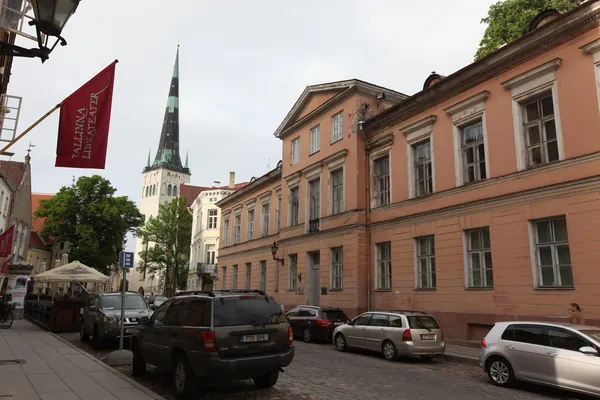
[[[287,323],[281,306],[271,297],[215,299],[215,326]]]

